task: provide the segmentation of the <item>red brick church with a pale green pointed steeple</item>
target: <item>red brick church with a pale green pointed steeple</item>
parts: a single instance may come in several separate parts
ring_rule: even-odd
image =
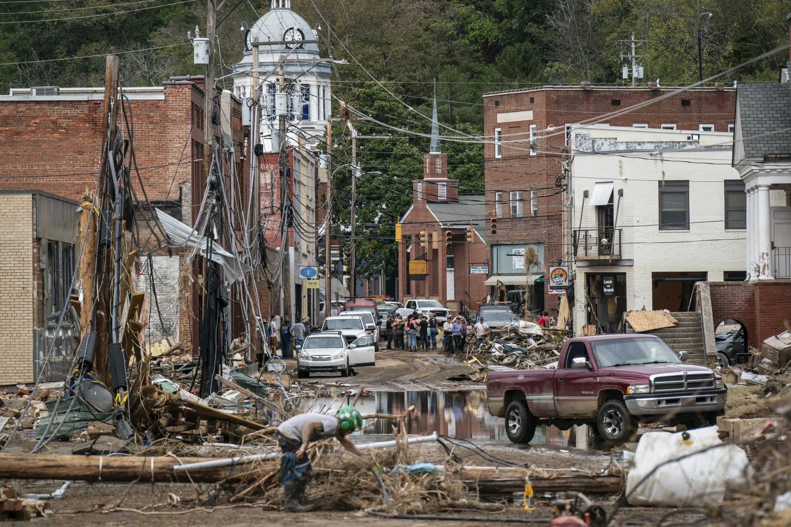
[[[412,182],[412,206],[396,226],[398,298],[438,300],[454,313],[465,306],[475,310],[486,297],[483,284],[490,266],[483,195],[460,196],[459,181],[448,179],[436,101],[433,121],[431,151],[423,156],[423,179]],[[410,274],[414,260],[425,261],[425,274]]]

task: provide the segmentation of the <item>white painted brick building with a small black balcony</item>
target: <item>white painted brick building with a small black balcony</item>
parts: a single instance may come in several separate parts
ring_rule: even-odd
[[[746,200],[732,134],[704,130],[573,131],[566,251],[576,335],[584,324],[617,332],[626,310],[694,310],[696,281],[744,280]]]

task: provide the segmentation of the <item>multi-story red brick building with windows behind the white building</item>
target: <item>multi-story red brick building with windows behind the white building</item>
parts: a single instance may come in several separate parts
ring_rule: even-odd
[[[484,135],[491,138],[484,148],[486,222],[497,218],[496,233],[489,226],[486,229],[491,254],[515,255],[513,248],[532,245],[541,258],[543,276],[547,267],[566,260],[564,226],[570,203],[563,161],[573,123],[732,131],[735,90],[722,85],[689,89],[623,115],[614,113],[672,90],[653,85],[566,85],[484,94]],[[542,275],[536,275],[536,290],[548,293],[548,281],[542,283]],[[505,285],[507,289],[523,287]],[[546,307],[557,313],[557,305],[548,297],[541,305],[536,294],[532,310]]]

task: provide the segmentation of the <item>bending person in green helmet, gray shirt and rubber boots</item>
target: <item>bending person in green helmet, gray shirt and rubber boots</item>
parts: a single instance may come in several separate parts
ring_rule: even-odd
[[[280,483],[283,501],[290,512],[308,512],[312,505],[302,503],[305,487],[311,476],[308,445],[320,439],[336,438],[343,448],[361,456],[362,453],[346,436],[362,428],[362,415],[353,406],[344,406],[338,414],[307,412],[286,419],[278,427],[278,445],[283,453],[280,461]]]

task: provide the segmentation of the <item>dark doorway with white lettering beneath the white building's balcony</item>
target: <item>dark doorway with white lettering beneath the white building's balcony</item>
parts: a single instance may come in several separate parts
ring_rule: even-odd
[[[586,273],[588,324],[596,332],[619,333],[626,311],[626,273]]]

